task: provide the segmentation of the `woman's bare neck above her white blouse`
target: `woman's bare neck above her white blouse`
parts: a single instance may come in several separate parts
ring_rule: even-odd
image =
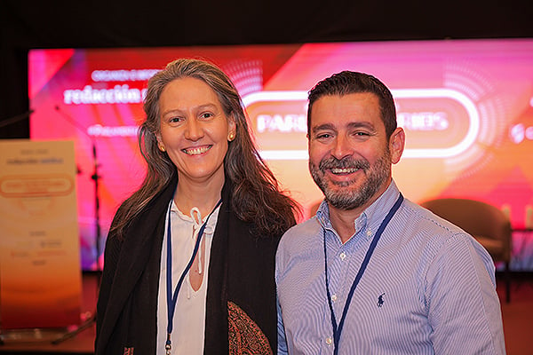
[[[191,209],[197,208],[205,217],[211,213],[220,200],[223,186],[224,177],[207,182],[195,182],[179,178],[178,187],[174,194],[174,203],[186,215]]]

